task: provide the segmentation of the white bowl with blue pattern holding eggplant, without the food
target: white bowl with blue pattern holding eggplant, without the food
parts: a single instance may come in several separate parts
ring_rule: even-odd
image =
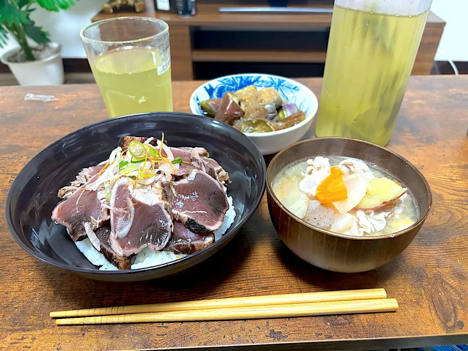
[[[233,92],[249,85],[275,88],[283,100],[296,104],[299,110],[306,114],[305,120],[291,128],[269,133],[246,133],[263,155],[283,150],[304,137],[318,109],[317,97],[309,88],[289,78],[256,73],[216,78],[195,89],[190,97],[190,109],[193,114],[203,116],[201,101],[209,98],[222,98],[226,92]]]

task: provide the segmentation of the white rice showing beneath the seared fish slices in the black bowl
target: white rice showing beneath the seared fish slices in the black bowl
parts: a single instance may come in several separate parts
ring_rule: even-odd
[[[231,227],[235,219],[235,211],[233,205],[233,197],[228,196],[229,209],[224,216],[223,224],[218,230],[214,232],[215,241],[219,240]],[[95,266],[101,266],[100,271],[118,271],[117,267],[110,263],[104,255],[96,250],[91,244],[91,241],[86,238],[81,241],[76,241],[78,250],[84,254],[84,256]],[[147,268],[158,266],[167,262],[172,262],[182,257],[187,256],[186,254],[174,254],[170,251],[153,251],[148,248],[141,250],[135,257],[135,261],[131,266],[132,269]]]

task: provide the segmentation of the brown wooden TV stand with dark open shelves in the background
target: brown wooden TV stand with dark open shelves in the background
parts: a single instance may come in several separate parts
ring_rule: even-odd
[[[218,12],[220,6],[236,5],[238,6],[238,4],[201,2],[198,3],[196,16],[182,18],[173,13],[155,12],[154,4],[147,3],[148,10],[145,13],[106,15],[101,12],[92,21],[122,16],[147,16],[168,22],[174,80],[194,79],[194,67],[199,67],[201,75],[209,75],[207,71],[213,69],[213,65],[218,62],[230,62],[231,67],[228,66],[228,70],[243,70],[240,63],[244,62],[261,63],[262,65],[254,66],[258,68],[274,63],[278,65],[285,63],[320,64],[313,72],[321,75],[326,56],[331,14],[267,15]],[[330,8],[332,4],[330,1],[315,1],[313,6]],[[426,29],[412,70],[413,75],[430,74],[444,26],[444,20],[429,12]],[[276,32],[281,36],[277,47],[269,44],[269,32]],[[245,37],[236,42],[239,33],[243,33]],[[220,37],[225,38],[224,42]],[[250,43],[249,49],[241,50],[240,48],[246,42]],[[230,43],[232,43],[231,46]],[[224,47],[226,45],[228,48]],[[235,62],[235,65],[232,62]],[[246,66],[243,72],[252,71],[251,68],[252,66]],[[271,69],[274,70],[275,67]],[[292,67],[288,67],[288,70],[291,72]],[[304,70],[302,70],[302,75],[300,69],[297,71],[295,77],[311,75],[304,74]],[[220,74],[224,74],[223,71],[217,76]]]

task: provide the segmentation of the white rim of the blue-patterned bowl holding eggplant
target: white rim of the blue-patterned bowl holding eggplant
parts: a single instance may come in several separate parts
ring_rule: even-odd
[[[308,100],[308,101],[310,101],[311,105],[314,106],[313,113],[309,114],[309,116],[306,116],[306,118],[302,122],[297,123],[296,125],[294,125],[292,127],[289,127],[289,128],[286,128],[286,129],[281,129],[279,131],[266,132],[266,133],[243,133],[247,137],[271,137],[271,136],[279,136],[281,134],[289,133],[289,132],[292,132],[292,131],[294,131],[296,129],[300,129],[303,126],[307,125],[309,122],[312,121],[312,118],[315,117],[315,115],[317,114],[317,111],[318,111],[318,98],[313,93],[312,90],[310,90],[304,84],[299,83],[297,80],[294,80],[292,78],[286,78],[286,77],[282,77],[282,76],[271,75],[271,74],[263,74],[263,73],[239,73],[239,74],[234,74],[234,75],[227,75],[227,76],[222,76],[222,77],[218,77],[218,78],[215,78],[215,79],[211,79],[211,80],[208,80],[208,81],[204,82],[203,84],[200,84],[198,87],[196,87],[196,89],[194,90],[194,92],[190,96],[189,105],[190,105],[190,110],[192,111],[192,113],[195,116],[202,116],[202,115],[197,114],[197,112],[195,111],[195,107],[194,107],[195,106],[195,93],[196,93],[196,91],[198,89],[204,87],[207,84],[210,84],[211,82],[215,82],[215,81],[217,81],[219,79],[231,78],[231,77],[243,77],[243,76],[272,77],[272,78],[279,78],[279,79],[287,80],[287,81],[293,83],[294,85],[298,86],[299,88],[301,88],[302,91],[306,92],[310,96],[310,100]],[[204,116],[204,117],[206,117],[206,116]],[[208,118],[210,118],[210,117],[208,117]]]

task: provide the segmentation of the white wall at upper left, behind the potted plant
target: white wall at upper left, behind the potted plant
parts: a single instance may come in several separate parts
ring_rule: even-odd
[[[91,23],[91,19],[101,9],[106,0],[79,0],[68,11],[48,12],[38,8],[31,18],[38,25],[50,32],[53,41],[63,46],[62,56],[66,58],[86,58],[79,31],[85,25]],[[0,53],[15,47],[17,44],[10,38],[8,47],[0,49]]]

